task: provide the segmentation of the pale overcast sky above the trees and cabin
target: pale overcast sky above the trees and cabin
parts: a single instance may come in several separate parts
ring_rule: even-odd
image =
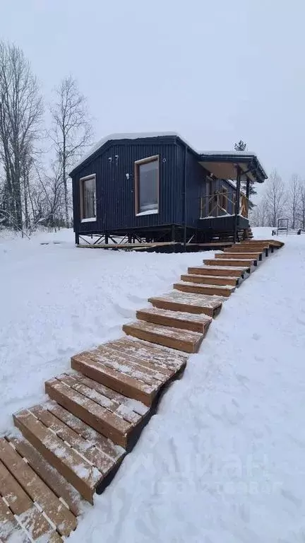
[[[244,139],[305,177],[304,0],[0,0],[46,102],[72,74],[96,139],[177,131],[200,150]]]

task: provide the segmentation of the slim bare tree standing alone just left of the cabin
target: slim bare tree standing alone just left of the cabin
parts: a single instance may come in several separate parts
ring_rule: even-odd
[[[49,133],[56,151],[64,187],[66,226],[69,225],[68,169],[91,144],[92,127],[87,100],[78,90],[76,80],[64,78],[55,90],[56,103],[51,106],[52,130]]]

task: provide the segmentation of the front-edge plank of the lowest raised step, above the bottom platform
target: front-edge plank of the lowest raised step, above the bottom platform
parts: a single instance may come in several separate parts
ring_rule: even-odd
[[[64,385],[62,385],[64,386]],[[50,464],[69,481],[86,500],[93,502],[95,488],[102,479],[100,471],[78,452],[54,435],[29,411],[13,415],[15,425]]]

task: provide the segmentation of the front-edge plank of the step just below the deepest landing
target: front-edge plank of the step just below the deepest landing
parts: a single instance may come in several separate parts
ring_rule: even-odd
[[[65,409],[110,438],[117,445],[126,448],[128,433],[133,428],[130,423],[57,379],[47,381],[45,390],[50,398]]]

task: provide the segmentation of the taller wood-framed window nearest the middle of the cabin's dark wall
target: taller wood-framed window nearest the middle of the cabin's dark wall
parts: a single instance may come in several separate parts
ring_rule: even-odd
[[[158,213],[159,156],[150,156],[135,163],[136,215]]]

